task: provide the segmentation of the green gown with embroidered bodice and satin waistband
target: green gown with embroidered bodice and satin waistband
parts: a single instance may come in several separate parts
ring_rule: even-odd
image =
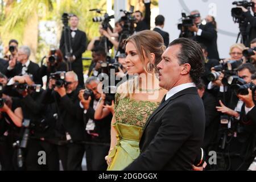
[[[159,102],[137,101],[119,98],[115,94],[115,123],[117,145],[109,154],[112,163],[109,171],[119,171],[127,167],[139,156],[139,140],[148,117],[159,106]]]

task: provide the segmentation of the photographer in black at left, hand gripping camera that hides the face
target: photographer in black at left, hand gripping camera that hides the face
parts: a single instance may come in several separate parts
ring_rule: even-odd
[[[47,105],[43,104],[45,91],[42,88],[31,89],[34,82],[28,75],[15,76],[13,81],[28,85],[24,89],[18,89],[18,86],[16,88],[22,96],[20,105],[23,110],[23,118],[30,119],[30,126],[28,126],[30,137],[26,148],[26,169],[28,171],[59,169],[56,146],[47,142],[48,139],[54,137],[54,123],[51,123],[47,116]],[[47,166],[38,164],[39,151],[46,152]]]

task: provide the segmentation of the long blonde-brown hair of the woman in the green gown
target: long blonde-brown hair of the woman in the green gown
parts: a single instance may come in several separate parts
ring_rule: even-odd
[[[162,59],[162,54],[166,49],[162,36],[158,32],[144,30],[126,39],[125,46],[129,42],[131,42],[137,50],[139,58],[144,66],[144,71],[152,74],[158,72],[158,70],[156,69],[156,65],[160,63]],[[146,63],[146,57],[149,59],[150,53],[154,53],[155,60],[150,60],[148,63]],[[127,96],[131,97],[134,91],[139,87],[139,77],[135,76],[134,78],[120,85],[120,87],[121,88],[119,88],[118,90],[121,94],[121,98]]]

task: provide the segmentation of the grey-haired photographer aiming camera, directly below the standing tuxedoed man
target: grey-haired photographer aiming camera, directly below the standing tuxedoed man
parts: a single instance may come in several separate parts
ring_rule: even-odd
[[[58,79],[56,79],[58,77]],[[84,123],[82,109],[79,106],[79,84],[75,72],[67,72],[63,79],[59,73],[51,76],[44,95],[47,104],[56,103],[57,123],[56,137],[59,143],[58,152],[63,169],[81,171],[84,155]],[[59,82],[59,84],[57,84]],[[61,84],[60,84],[61,83]]]

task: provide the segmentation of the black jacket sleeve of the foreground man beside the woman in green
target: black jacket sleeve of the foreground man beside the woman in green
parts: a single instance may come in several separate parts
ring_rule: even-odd
[[[167,106],[158,133],[137,159],[125,170],[160,170],[192,134],[189,107],[181,102]],[[181,114],[181,110],[184,113]],[[152,125],[152,122],[147,126]],[[166,163],[165,163],[166,162]]]

